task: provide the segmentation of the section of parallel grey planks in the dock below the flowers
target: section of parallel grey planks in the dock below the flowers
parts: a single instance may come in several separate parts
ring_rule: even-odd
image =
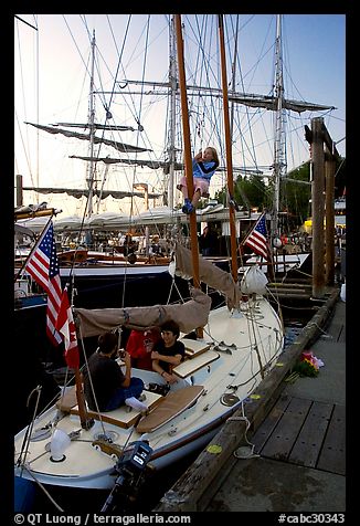
[[[264,457],[346,474],[345,407],[283,396],[252,436]]]

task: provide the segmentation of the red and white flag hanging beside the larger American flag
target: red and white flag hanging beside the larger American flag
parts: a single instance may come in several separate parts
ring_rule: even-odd
[[[78,369],[80,357],[76,337],[76,327],[73,318],[73,312],[70,306],[67,286],[63,291],[56,329],[62,334],[65,346],[65,360],[67,367]]]

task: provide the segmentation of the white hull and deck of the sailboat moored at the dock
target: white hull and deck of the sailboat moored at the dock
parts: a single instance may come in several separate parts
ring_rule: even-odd
[[[56,428],[67,434],[80,431],[80,435],[71,441],[63,462],[51,460],[46,445],[50,436],[30,441],[24,454],[22,444],[25,430],[22,430],[14,439],[15,464],[22,452],[15,475],[35,477],[49,485],[112,488],[117,476],[114,470],[116,457],[94,446],[94,440],[104,432],[109,433],[113,443],[120,446],[136,440],[147,440],[152,449],[150,462],[156,469],[162,469],[203,448],[243,402],[246,414],[246,399],[262,380],[260,360],[266,375],[282,353],[284,341],[280,320],[263,297],[242,304],[236,314],[231,314],[226,307],[211,311],[203,339],[210,345],[209,350],[178,366],[179,383],[174,387],[174,391],[180,392],[180,389],[188,386],[203,386],[203,392],[195,403],[181,410],[158,429],[146,433],[136,430],[138,422],[135,427],[126,428],[115,420],[102,424],[98,419],[95,419],[89,430],[85,430],[81,428],[77,414],[64,414]],[[141,377],[145,383],[161,382],[160,376],[152,371],[134,369],[133,376]],[[151,396],[153,393],[147,393],[148,401]],[[167,397],[160,404],[166,399]],[[131,417],[125,409],[121,411],[125,419]],[[55,414],[56,408],[53,407],[36,419],[33,430],[45,428]],[[112,417],[112,412],[103,414]],[[135,414],[136,411],[133,415]]]

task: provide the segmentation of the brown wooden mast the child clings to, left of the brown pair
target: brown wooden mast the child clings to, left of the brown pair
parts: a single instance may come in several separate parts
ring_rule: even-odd
[[[181,117],[182,117],[182,134],[183,134],[183,147],[184,147],[184,166],[187,186],[189,192],[189,199],[193,197],[193,176],[192,176],[192,157],[190,145],[190,126],[189,126],[189,111],[187,98],[187,81],[184,73],[184,60],[183,60],[183,39],[181,31],[181,14],[174,14],[176,34],[177,34],[177,52],[178,52],[178,65],[179,65],[179,85],[181,97]],[[193,285],[200,288],[199,278],[199,245],[198,245],[198,229],[197,229],[197,212],[193,210],[190,215],[190,239],[191,239],[191,254],[192,254],[192,269],[193,269]]]

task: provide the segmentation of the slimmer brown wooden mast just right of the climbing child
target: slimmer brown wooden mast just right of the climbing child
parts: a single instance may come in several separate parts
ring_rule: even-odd
[[[219,21],[219,40],[220,40],[220,56],[221,56],[221,80],[223,91],[223,113],[224,113],[224,132],[225,132],[225,151],[226,151],[226,175],[227,175],[227,191],[231,200],[234,199],[234,179],[233,179],[233,161],[231,152],[231,133],[229,118],[229,94],[227,94],[227,78],[226,78],[226,57],[224,43],[224,24],[223,15],[218,14]],[[235,230],[235,208],[233,204],[229,207],[230,214],[230,242],[231,242],[231,272],[234,282],[237,283],[237,254],[236,254],[236,230]]]

